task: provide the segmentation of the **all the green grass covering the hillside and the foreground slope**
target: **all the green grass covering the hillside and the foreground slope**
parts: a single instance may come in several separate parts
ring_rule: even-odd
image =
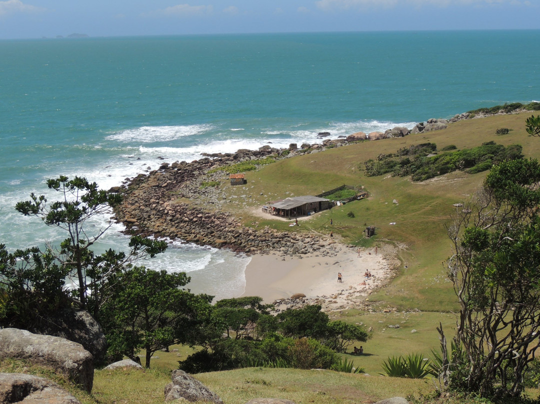
[[[279,397],[296,403],[374,402],[391,396],[418,395],[433,390],[433,381],[388,379],[379,375],[381,364],[389,356],[422,353],[438,349],[435,327],[442,323],[447,338],[454,335],[456,299],[446,278],[444,261],[451,253],[444,225],[449,223],[453,204],[463,201],[482,183],[486,173],[463,172],[413,183],[410,178],[390,176],[366,177],[363,162],[380,153],[395,153],[402,147],[435,143],[437,149],[456,145],[465,149],[493,140],[502,145],[521,144],[526,157],[540,157],[540,140],[525,132],[525,119],[531,113],[462,120],[448,129],[404,138],[362,142],[336,147],[322,153],[280,160],[258,171],[246,172],[247,184],[223,183],[228,195],[244,196],[246,209],[233,203],[228,208],[247,226],[271,226],[280,230],[319,232],[331,230],[343,243],[374,247],[390,243],[400,248],[401,266],[389,285],[369,296],[371,312],[349,310],[333,313],[353,324],[372,327],[372,339],[365,355],[346,355],[355,366],[365,368],[370,376],[333,371],[300,371],[295,369],[249,368],[229,372],[198,374],[197,379],[214,390],[226,404],[243,404],[252,398]],[[510,129],[498,136],[499,128]],[[249,213],[268,201],[287,196],[318,194],[342,184],[363,186],[367,199],[320,212],[300,227],[288,227],[271,217],[261,219]],[[394,204],[393,200],[398,203]],[[354,218],[347,216],[354,213]],[[330,227],[330,219],[333,225]],[[395,223],[395,225],[390,224]],[[366,226],[376,226],[376,235],[364,237]],[[386,311],[386,312],[385,312]],[[389,325],[400,325],[389,328]],[[170,369],[189,354],[187,348],[177,353],[158,353],[151,371],[97,371],[92,396],[78,394],[85,403],[161,403],[163,388],[170,379]],[[13,369],[0,363],[0,370]],[[536,396],[538,392],[531,392]]]

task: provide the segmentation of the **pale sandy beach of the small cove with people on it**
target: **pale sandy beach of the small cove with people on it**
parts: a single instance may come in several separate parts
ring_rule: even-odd
[[[393,276],[399,261],[390,248],[361,249],[330,243],[321,253],[282,257],[278,254],[253,255],[246,268],[243,296],[260,296],[272,303],[303,293],[307,300],[324,300],[327,309],[354,306],[374,288]],[[359,257],[360,255],[360,257]],[[365,277],[366,271],[372,277]],[[338,282],[338,273],[342,282]],[[356,300],[356,302],[355,302]]]

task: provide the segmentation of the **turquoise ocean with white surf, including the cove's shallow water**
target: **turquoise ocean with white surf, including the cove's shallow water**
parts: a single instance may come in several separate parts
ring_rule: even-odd
[[[540,100],[540,30],[268,33],[0,41],[0,243],[65,234],[14,209],[47,178],[108,189],[167,161]],[[163,158],[161,160],[160,158]],[[98,218],[89,229],[107,224]],[[99,249],[126,249],[114,224]],[[249,258],[172,243],[154,269],[244,291]]]

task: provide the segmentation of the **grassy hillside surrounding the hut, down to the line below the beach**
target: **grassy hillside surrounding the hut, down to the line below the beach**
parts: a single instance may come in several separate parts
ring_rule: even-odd
[[[444,225],[449,223],[450,214],[455,210],[453,204],[473,193],[481,185],[486,172],[473,175],[454,172],[414,183],[410,177],[367,177],[363,162],[375,159],[380,153],[395,153],[402,147],[421,143],[435,143],[438,150],[448,145],[468,149],[490,140],[504,146],[521,144],[526,157],[538,157],[540,141],[529,137],[525,131],[525,119],[530,115],[522,113],[461,120],[441,131],[372,142],[367,140],[322,153],[284,159],[259,171],[246,172],[247,185],[244,187],[223,184],[222,188],[239,197],[247,194],[248,198],[242,199],[251,201],[251,206],[258,208],[268,201],[318,194],[342,184],[365,187],[370,193],[369,198],[321,212],[302,226],[293,227],[292,231],[328,234],[332,218],[332,231],[344,243],[367,247],[381,243],[400,246],[401,268],[393,282],[376,293],[373,300],[399,310],[454,310],[457,309],[454,293],[444,267],[444,261],[451,253]],[[499,128],[510,131],[497,135]],[[248,226],[271,226],[291,231],[283,221],[271,217],[261,219],[250,215],[243,207],[228,206]],[[351,211],[354,218],[347,217]],[[370,225],[377,227],[376,235],[366,239],[364,231]]]

